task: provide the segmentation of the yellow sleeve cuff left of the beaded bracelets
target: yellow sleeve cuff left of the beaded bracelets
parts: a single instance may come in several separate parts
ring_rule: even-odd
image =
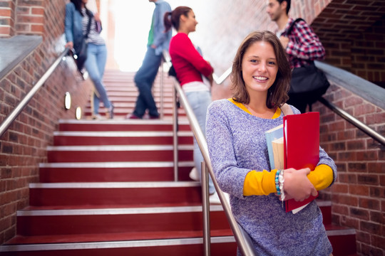
[[[272,171],[250,171],[246,174],[243,184],[243,196],[267,196],[270,193],[277,192],[275,174],[277,174],[277,169]]]

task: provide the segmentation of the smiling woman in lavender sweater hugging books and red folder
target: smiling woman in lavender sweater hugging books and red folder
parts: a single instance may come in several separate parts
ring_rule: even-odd
[[[250,33],[232,65],[232,98],[212,102],[207,111],[212,169],[256,255],[329,256],[332,245],[316,201],[295,214],[287,213],[282,201],[303,201],[331,186],[337,178],[334,161],[319,148],[314,171],[270,169],[265,131],[283,123],[284,106],[300,114],[284,103],[289,80],[289,62],[277,36]]]

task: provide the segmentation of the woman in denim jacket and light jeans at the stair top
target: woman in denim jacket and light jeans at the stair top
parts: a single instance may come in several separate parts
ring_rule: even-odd
[[[113,118],[113,105],[108,100],[106,88],[103,85],[103,73],[106,67],[107,61],[107,48],[106,42],[100,35],[96,21],[100,23],[98,14],[93,15],[90,10],[87,9],[86,4],[88,0],[71,0],[71,3],[66,4],[66,20],[65,20],[65,32],[66,32],[66,48],[73,48],[73,44],[79,41],[86,33],[88,19],[91,18],[91,29],[88,33],[86,42],[87,59],[84,63],[86,70],[95,86],[95,92],[93,93],[93,119],[101,119],[101,115],[98,114],[99,103],[103,102],[104,107],[107,108],[106,117]]]

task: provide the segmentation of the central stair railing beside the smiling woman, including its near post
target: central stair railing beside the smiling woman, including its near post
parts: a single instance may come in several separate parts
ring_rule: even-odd
[[[168,66],[171,67],[171,59],[170,54],[168,51],[163,51],[163,57],[165,58],[165,62],[168,63]],[[203,207],[202,210],[204,210],[204,228],[205,230],[203,234],[203,241],[205,242],[205,255],[210,255],[210,250],[207,249],[209,247],[208,243],[210,241],[210,219],[209,219],[209,213],[210,213],[210,205],[208,200],[208,181],[205,177],[208,179],[208,174],[210,174],[212,178],[212,183],[215,186],[215,189],[217,191],[217,194],[220,198],[220,202],[222,203],[222,208],[225,210],[225,214],[227,216],[227,220],[230,224],[230,228],[232,229],[232,233],[235,236],[235,240],[237,242],[237,245],[242,252],[242,255],[245,256],[252,256],[256,255],[254,247],[252,245],[251,239],[249,235],[245,232],[245,230],[240,227],[240,225],[235,220],[234,216],[232,215],[230,203],[225,198],[225,194],[220,190],[217,180],[215,179],[214,172],[212,171],[212,166],[210,162],[210,156],[208,154],[208,148],[207,148],[207,142],[205,139],[205,135],[202,132],[202,129],[200,129],[199,123],[197,122],[197,118],[195,117],[195,114],[193,112],[192,107],[190,106],[187,97],[185,95],[185,92],[183,92],[182,87],[180,86],[178,80],[176,78],[173,78],[174,85],[175,85],[175,105],[176,105],[176,94],[178,93],[179,100],[183,105],[183,108],[187,114],[188,120],[190,122],[190,127],[193,130],[193,134],[195,139],[197,140],[197,144],[200,148],[200,151],[202,152],[202,156],[204,161],[205,168],[202,168],[202,177],[204,178],[204,181],[202,181],[202,198],[203,198]],[[175,107],[177,108],[177,107]],[[178,131],[174,131],[174,134],[176,134]],[[178,139],[178,138],[177,138]],[[178,164],[178,162],[176,163]],[[208,173],[207,173],[207,171]]]

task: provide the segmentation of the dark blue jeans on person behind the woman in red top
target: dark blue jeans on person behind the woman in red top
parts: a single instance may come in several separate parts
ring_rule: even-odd
[[[148,114],[153,117],[158,117],[158,109],[155,105],[153,93],[151,88],[158,73],[162,55],[155,55],[155,49],[147,46],[147,52],[142,65],[135,75],[135,85],[138,87],[139,95],[136,100],[135,110],[133,114],[142,118],[145,114],[145,110],[148,110]]]

